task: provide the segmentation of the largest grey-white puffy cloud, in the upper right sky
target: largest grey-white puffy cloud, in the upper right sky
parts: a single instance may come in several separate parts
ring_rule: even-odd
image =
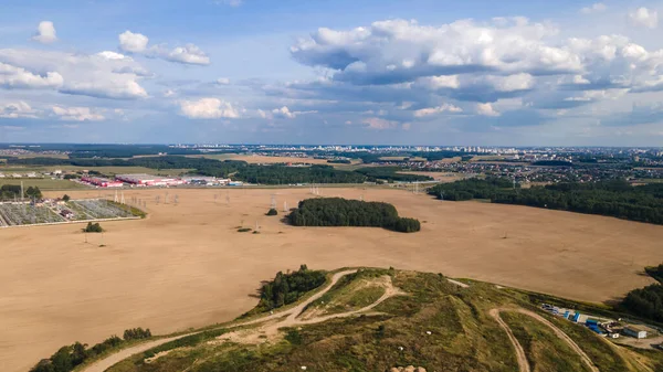
[[[335,70],[355,84],[394,84],[470,72],[555,74],[580,71],[582,60],[549,39],[557,29],[527,19],[488,24],[470,20],[424,26],[388,20],[349,31],[326,28],[291,46],[295,60]]]

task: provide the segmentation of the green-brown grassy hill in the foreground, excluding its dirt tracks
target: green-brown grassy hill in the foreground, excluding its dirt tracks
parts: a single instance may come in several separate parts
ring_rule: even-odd
[[[276,334],[262,333],[261,326],[244,328],[242,337],[232,342],[223,341],[230,332],[230,326],[224,326],[135,354],[108,372],[295,371],[303,365],[312,371],[356,372],[407,365],[427,371],[518,370],[506,333],[487,312],[497,306],[534,309],[537,304],[527,296],[487,283],[460,288],[441,274],[365,269],[337,283],[323,298],[347,302],[351,293],[383,277],[404,295],[386,300],[376,312],[283,328]],[[517,313],[504,318],[524,346],[533,372],[589,371],[579,355],[541,323]],[[559,321],[566,322],[569,337],[602,372],[646,371],[634,358],[653,370],[663,368],[661,354],[611,349],[608,341],[583,327]]]

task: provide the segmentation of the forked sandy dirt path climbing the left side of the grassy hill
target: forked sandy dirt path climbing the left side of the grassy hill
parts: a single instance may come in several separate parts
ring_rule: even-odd
[[[323,297],[327,291],[329,291],[329,289],[332,289],[332,287],[334,287],[334,285],[338,281],[338,279],[340,279],[341,277],[348,275],[348,274],[354,274],[356,273],[356,269],[350,269],[350,270],[344,270],[344,272],[338,272],[336,274],[334,274],[334,276],[332,277],[332,283],[329,283],[329,285],[327,285],[324,289],[322,289],[320,291],[316,293],[315,295],[311,296],[309,298],[307,298],[306,300],[304,300],[302,304],[283,310],[283,311],[278,311],[278,312],[274,312],[272,315],[265,316],[265,317],[261,317],[257,319],[253,319],[253,320],[249,320],[249,321],[244,321],[244,322],[239,322],[239,323],[234,323],[231,326],[227,326],[223,328],[235,328],[235,327],[242,327],[242,326],[251,326],[251,325],[255,325],[255,323],[260,323],[260,322],[264,322],[264,321],[269,321],[269,320],[274,320],[277,318],[282,318],[285,315],[290,315],[283,322],[278,322],[278,328],[281,327],[288,327],[288,320],[294,320],[295,322],[298,322],[298,320],[296,320],[296,317],[302,313],[302,311],[304,311],[304,309],[306,308],[306,306],[308,306],[308,304],[315,301],[316,299]],[[385,293],[385,295],[387,295],[387,291]],[[371,306],[367,307],[367,308],[372,308],[375,306],[377,306],[379,302],[383,301],[387,298],[383,298],[385,296],[382,296],[377,302],[372,304]],[[365,309],[367,309],[365,308]],[[361,309],[361,310],[365,310]],[[354,312],[358,312],[361,310],[357,310]],[[343,313],[339,313],[338,316],[344,316]],[[346,315],[347,316],[347,315]],[[312,319],[312,320],[317,320],[317,319]],[[327,319],[325,319],[327,320]],[[159,340],[155,340],[155,341],[148,341],[131,348],[127,348],[127,349],[123,349],[112,355],[108,355],[105,359],[102,359],[99,361],[96,361],[93,364],[90,364],[88,366],[85,366],[81,370],[78,370],[77,372],[104,372],[107,369],[109,369],[110,366],[113,366],[114,364],[144,351],[147,351],[149,349],[156,348],[158,346],[161,346],[166,342],[170,342],[177,339],[181,339],[183,337],[187,336],[191,336],[191,334],[198,334],[201,333],[202,331],[198,331],[198,332],[191,332],[191,333],[186,333],[186,334],[180,334],[180,336],[173,336],[173,337],[169,337],[166,339],[159,339]]]

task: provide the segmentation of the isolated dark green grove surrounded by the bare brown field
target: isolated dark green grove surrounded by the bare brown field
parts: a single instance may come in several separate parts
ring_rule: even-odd
[[[287,221],[295,226],[382,227],[401,233],[421,230],[418,220],[400,217],[389,203],[343,198],[303,200],[287,215]]]

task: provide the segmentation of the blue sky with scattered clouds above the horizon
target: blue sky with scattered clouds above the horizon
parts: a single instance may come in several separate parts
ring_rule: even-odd
[[[663,1],[3,0],[0,142],[663,147]]]

